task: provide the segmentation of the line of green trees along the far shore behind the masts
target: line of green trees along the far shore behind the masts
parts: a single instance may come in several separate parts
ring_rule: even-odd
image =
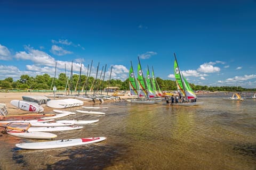
[[[174,91],[177,90],[176,82],[173,80],[163,80],[156,78],[157,83],[162,91]],[[93,77],[86,77],[85,75],[74,74],[72,79],[66,76],[65,73],[60,73],[58,78],[52,78],[49,74],[36,75],[36,77],[30,77],[27,74],[21,75],[20,79],[13,81],[13,78],[6,78],[0,80],[0,89],[31,89],[31,90],[52,90],[53,86],[57,87],[57,90],[103,90],[106,87],[119,87],[120,90],[129,90],[129,79],[125,81],[121,80],[94,80]],[[256,89],[246,89],[240,86],[221,86],[221,87],[208,87],[190,84],[191,88],[195,91],[256,91]]]

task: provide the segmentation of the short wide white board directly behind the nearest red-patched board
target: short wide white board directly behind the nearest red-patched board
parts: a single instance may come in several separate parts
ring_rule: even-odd
[[[20,138],[29,138],[29,139],[52,139],[56,138],[57,135],[53,133],[47,133],[47,132],[21,132],[21,131],[9,131],[7,132],[10,135],[13,135],[14,137],[20,137]]]

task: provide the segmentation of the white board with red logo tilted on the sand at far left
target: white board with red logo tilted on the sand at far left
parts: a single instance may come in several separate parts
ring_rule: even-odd
[[[29,111],[29,112],[43,112],[44,108],[42,106],[39,106],[35,102],[30,101],[23,101],[23,100],[12,100],[11,105],[14,107],[17,107],[23,111]]]

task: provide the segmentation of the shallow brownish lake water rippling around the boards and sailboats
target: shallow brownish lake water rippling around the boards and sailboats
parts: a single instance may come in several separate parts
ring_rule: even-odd
[[[190,107],[96,104],[109,107],[101,111],[106,115],[77,113],[68,118],[98,123],[53,133],[58,135],[55,140],[103,136],[105,141],[24,150],[15,143],[46,140],[3,134],[0,169],[256,169],[256,100],[222,98],[202,96],[202,106]]]

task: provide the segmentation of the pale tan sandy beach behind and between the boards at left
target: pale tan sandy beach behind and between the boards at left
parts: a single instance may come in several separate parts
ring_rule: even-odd
[[[108,93],[108,95],[112,95],[113,93]],[[0,103],[3,103],[7,107],[8,115],[20,115],[20,114],[29,114],[31,112],[22,111],[10,104],[11,100],[22,100],[22,96],[44,96],[44,95],[52,95],[52,92],[0,92]],[[121,99],[128,98],[129,96],[125,94],[125,96],[119,96]],[[52,98],[51,98],[52,99]],[[55,98],[58,99],[58,98]],[[61,99],[61,98],[60,98]],[[110,100],[105,100],[104,102],[109,102]],[[114,101],[114,100],[113,100]],[[84,104],[90,103],[89,101],[84,101]],[[48,113],[52,112],[54,108],[47,107],[45,104],[43,105],[44,112]]]

